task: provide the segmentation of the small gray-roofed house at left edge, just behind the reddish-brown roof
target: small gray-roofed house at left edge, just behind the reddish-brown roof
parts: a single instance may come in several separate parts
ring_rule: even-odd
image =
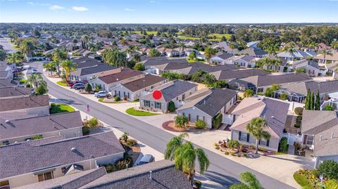
[[[18,86],[0,87],[0,99],[27,97],[30,95],[32,95],[31,88],[18,87]]]

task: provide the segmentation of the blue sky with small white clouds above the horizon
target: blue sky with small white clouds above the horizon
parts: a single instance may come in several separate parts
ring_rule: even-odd
[[[338,0],[0,0],[0,22],[338,22]]]

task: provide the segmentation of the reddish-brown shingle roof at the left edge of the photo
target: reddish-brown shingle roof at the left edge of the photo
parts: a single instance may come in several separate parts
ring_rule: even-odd
[[[29,96],[15,99],[13,98],[0,99],[0,112],[42,106],[49,106],[48,95]]]

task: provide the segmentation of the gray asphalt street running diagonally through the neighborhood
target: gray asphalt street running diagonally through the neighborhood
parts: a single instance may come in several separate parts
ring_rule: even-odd
[[[41,64],[37,65],[37,63],[30,63],[30,65],[33,67],[38,67],[39,72],[42,72]],[[159,152],[165,151],[166,143],[170,140],[170,138],[173,138],[174,136],[171,133],[156,128],[156,126],[152,126],[151,124],[142,122],[139,119],[135,119],[133,117],[130,117],[129,115],[125,115],[122,112],[118,112],[117,110],[113,110],[110,107],[101,105],[94,100],[90,100],[88,98],[80,96],[79,94],[73,93],[72,91],[65,90],[61,86],[50,82],[49,79],[45,80],[48,84],[49,93],[52,96],[59,98],[65,101],[65,103],[73,105],[77,109],[84,112],[87,111],[87,103],[89,103],[89,115],[97,117],[106,124],[115,127],[116,129],[119,129],[121,131],[127,131],[128,133],[130,133],[130,136],[136,138],[139,141],[142,141],[142,143],[149,145],[151,148],[154,148]],[[201,148],[198,145],[195,146]],[[263,188],[293,188],[290,185],[277,181],[274,178],[261,174],[257,171],[254,171],[253,169],[249,169],[242,164],[238,164],[237,162],[222,157],[214,152],[211,152],[210,150],[207,150],[205,148],[202,149],[207,153],[208,158],[211,162],[210,166],[208,167],[208,171],[204,173],[204,176],[208,177],[212,181],[224,185],[224,188],[229,188],[232,183],[238,183],[239,174],[244,171],[250,171],[255,174],[263,185]],[[264,166],[263,162],[262,166]],[[270,169],[274,169],[274,167],[270,167]]]

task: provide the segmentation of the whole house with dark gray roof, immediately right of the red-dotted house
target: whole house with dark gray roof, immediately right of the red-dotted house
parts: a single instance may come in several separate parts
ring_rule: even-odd
[[[184,100],[177,115],[188,117],[192,123],[202,120],[206,127],[213,128],[214,117],[219,114],[225,117],[236,100],[237,91],[231,89],[201,89]]]

